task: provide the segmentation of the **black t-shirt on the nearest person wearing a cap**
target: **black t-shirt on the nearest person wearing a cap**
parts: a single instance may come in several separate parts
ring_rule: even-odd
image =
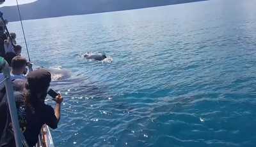
[[[56,129],[58,121],[54,115],[54,109],[47,104],[43,104],[34,111],[26,107],[26,123],[27,127],[24,136],[29,146],[34,146],[38,141],[42,125],[46,124],[52,129]]]

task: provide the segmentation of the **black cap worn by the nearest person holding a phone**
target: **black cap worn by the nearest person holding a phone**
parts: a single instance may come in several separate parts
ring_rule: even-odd
[[[45,69],[31,71],[28,76],[28,88],[34,92],[40,92],[48,88],[51,82],[51,73]]]

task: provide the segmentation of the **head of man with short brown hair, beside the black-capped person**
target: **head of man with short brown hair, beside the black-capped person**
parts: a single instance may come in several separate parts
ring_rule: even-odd
[[[12,59],[12,72],[23,74],[26,71],[27,60],[21,56],[15,56]]]

